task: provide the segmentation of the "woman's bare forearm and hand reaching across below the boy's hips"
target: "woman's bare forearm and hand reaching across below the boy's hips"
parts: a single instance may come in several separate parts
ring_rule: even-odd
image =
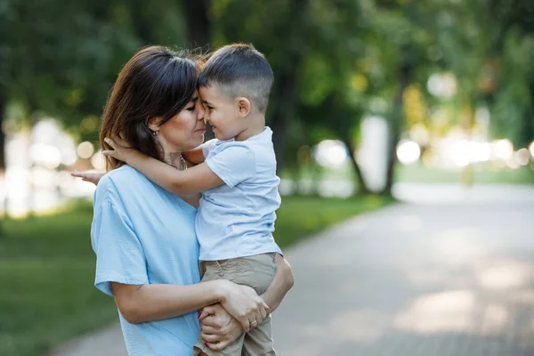
[[[214,280],[190,286],[148,284],[142,286],[111,282],[118,310],[132,324],[164,320],[183,315],[213,303],[221,303],[243,329],[249,320],[263,320],[266,305],[251,287],[228,280]]]

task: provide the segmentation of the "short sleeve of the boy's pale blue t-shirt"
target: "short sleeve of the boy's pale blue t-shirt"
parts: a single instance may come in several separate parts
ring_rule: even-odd
[[[230,188],[255,175],[254,152],[244,145],[227,145],[210,158],[206,165]]]

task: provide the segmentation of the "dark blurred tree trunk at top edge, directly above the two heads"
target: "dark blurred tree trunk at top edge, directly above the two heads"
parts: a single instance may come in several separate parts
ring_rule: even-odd
[[[208,0],[183,0],[185,22],[191,44],[204,47],[209,44],[211,23],[207,16]]]

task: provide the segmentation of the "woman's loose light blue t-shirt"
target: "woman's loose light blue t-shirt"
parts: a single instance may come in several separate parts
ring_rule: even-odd
[[[130,285],[200,282],[197,209],[150,182],[130,166],[102,177],[94,194],[91,241],[94,285],[112,295],[109,282]],[[192,355],[198,313],[128,323],[119,312],[130,356]]]

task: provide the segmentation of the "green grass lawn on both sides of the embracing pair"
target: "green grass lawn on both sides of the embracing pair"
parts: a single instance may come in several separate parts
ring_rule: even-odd
[[[275,239],[287,247],[391,199],[284,197]],[[42,355],[117,320],[113,299],[95,287],[93,209],[77,202],[55,214],[4,220],[0,237],[0,355]]]

